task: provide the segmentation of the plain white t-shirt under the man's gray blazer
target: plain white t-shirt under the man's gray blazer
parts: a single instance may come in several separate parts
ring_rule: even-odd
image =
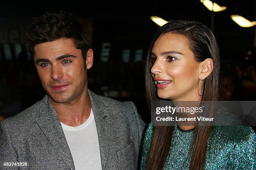
[[[68,126],[61,122],[76,170],[102,170],[100,145],[93,112],[79,126]]]

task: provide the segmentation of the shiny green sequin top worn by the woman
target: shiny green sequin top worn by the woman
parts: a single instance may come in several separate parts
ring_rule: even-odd
[[[153,125],[146,130],[141,158],[141,170],[145,170],[150,148]],[[194,130],[181,130],[174,126],[169,155],[164,170],[188,170],[187,158]],[[215,126],[207,141],[205,170],[255,170],[256,134],[249,126]]]

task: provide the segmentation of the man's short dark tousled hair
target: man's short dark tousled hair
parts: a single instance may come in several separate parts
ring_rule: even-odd
[[[89,39],[86,30],[72,13],[46,12],[40,17],[33,18],[33,22],[26,31],[27,45],[31,56],[34,56],[35,45],[61,38],[72,38],[75,47],[82,50],[85,62]]]

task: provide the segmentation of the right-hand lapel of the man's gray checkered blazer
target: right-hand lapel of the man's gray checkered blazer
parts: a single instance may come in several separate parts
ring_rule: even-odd
[[[107,107],[95,93],[88,90],[92,104],[92,112],[95,117],[97,134],[100,145],[100,159],[102,170],[105,170],[109,155],[110,142],[110,108]]]

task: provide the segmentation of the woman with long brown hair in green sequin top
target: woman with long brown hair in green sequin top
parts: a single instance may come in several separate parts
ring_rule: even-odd
[[[205,25],[170,21],[156,32],[146,63],[151,101],[218,101],[218,44]],[[214,116],[214,105],[204,110]],[[146,130],[141,170],[255,169],[256,135],[248,126],[154,126]]]

